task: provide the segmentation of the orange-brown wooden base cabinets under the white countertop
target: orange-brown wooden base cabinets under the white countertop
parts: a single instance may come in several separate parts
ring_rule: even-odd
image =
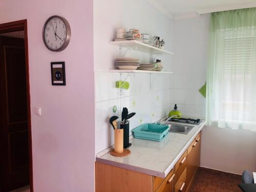
[[[201,132],[165,178],[95,163],[96,192],[184,192],[189,191],[200,166]]]

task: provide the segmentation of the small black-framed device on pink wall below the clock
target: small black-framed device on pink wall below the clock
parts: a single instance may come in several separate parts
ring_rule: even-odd
[[[66,86],[65,62],[51,62],[52,85]]]

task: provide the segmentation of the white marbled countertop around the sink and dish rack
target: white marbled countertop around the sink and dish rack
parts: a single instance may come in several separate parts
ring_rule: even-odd
[[[131,155],[115,157],[107,153],[96,157],[96,162],[165,178],[204,125],[201,120],[187,135],[169,132],[161,142],[133,138],[129,147]]]

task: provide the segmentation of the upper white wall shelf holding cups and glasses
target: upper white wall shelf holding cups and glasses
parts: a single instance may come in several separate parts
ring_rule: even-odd
[[[143,42],[140,42],[137,40],[111,41],[110,44],[119,46],[119,47],[131,48],[131,49],[144,52],[144,53],[149,53],[149,54],[171,54],[171,55],[174,54],[173,52],[159,49],[159,48],[144,44]]]

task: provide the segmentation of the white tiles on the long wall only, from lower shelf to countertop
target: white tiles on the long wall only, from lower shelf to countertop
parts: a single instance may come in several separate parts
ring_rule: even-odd
[[[157,121],[169,112],[172,74],[132,74],[126,79],[130,83],[130,89],[124,90],[123,95],[120,95],[120,90],[115,88],[115,82],[123,80],[126,75],[127,73],[120,75],[95,72],[96,153],[114,144],[114,131],[109,118],[113,115],[121,117],[123,107],[127,107],[129,113],[136,113],[130,119],[130,132],[139,124]],[[113,112],[114,106],[117,107],[116,113]]]

